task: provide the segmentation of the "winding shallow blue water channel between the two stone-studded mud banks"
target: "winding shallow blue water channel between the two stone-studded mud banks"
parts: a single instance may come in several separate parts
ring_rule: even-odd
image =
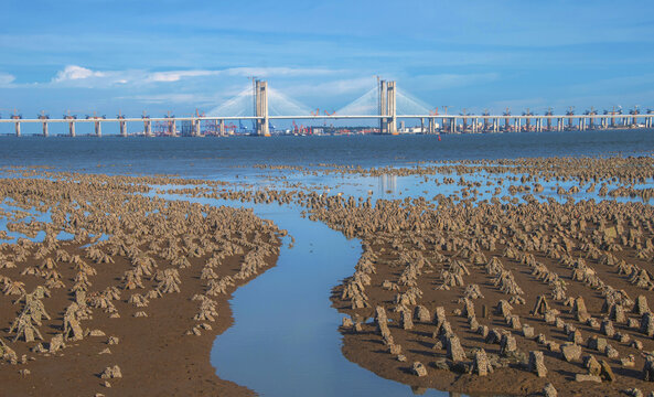
[[[341,353],[343,315],[331,307],[334,286],[354,272],[362,249],[326,225],[303,218],[300,208],[213,198],[172,200],[253,208],[287,229],[277,266],[233,296],[234,324],[211,352],[216,374],[261,396],[448,396],[385,379]]]

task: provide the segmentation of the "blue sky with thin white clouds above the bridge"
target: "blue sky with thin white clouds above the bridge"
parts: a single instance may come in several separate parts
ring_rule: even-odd
[[[303,109],[340,109],[377,75],[455,112],[654,108],[652,1],[4,0],[0,12],[2,118],[210,111],[253,75]]]

